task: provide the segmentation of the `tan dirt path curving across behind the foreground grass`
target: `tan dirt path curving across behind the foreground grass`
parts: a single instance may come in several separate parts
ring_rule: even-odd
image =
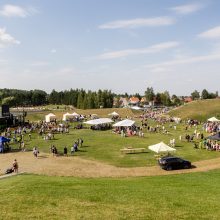
[[[0,154],[0,175],[9,168],[14,159],[19,163],[19,171],[49,176],[76,177],[135,177],[157,176],[179,173],[192,173],[220,168],[220,158],[193,163],[196,168],[189,170],[164,171],[159,166],[118,168],[97,161],[85,160],[80,157],[52,157],[42,153],[34,158],[32,152]]]

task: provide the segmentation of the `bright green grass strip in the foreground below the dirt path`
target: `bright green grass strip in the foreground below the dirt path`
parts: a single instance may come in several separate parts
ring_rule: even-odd
[[[0,219],[212,219],[220,170],[143,178],[20,175],[0,180]]]

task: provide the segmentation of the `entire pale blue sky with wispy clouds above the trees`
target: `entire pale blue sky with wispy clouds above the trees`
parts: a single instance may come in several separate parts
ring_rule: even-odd
[[[0,88],[220,92],[219,0],[0,0]]]

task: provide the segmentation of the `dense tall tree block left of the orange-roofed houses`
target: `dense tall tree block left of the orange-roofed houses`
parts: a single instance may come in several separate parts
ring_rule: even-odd
[[[47,94],[43,90],[0,89],[0,103],[16,106],[39,105],[73,105],[80,109],[111,108],[114,94],[109,90],[97,92],[84,89],[70,89],[65,91],[53,90]]]

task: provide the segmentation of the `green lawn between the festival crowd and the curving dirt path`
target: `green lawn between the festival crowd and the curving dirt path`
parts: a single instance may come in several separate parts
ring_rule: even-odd
[[[154,124],[152,122],[152,124]],[[74,141],[78,138],[83,138],[83,147],[79,152],[75,153],[75,156],[80,156],[85,159],[98,160],[108,164],[112,164],[118,167],[140,167],[140,166],[152,166],[156,165],[157,161],[154,158],[155,153],[148,150],[148,146],[157,144],[160,141],[169,143],[170,139],[176,139],[176,153],[175,155],[186,158],[192,162],[198,160],[205,160],[210,158],[219,157],[219,152],[206,151],[205,149],[194,149],[193,143],[187,143],[186,141],[179,141],[179,135],[188,133],[192,134],[195,128],[189,129],[185,132],[184,125],[177,125],[177,130],[169,128],[169,124],[165,125],[166,129],[170,131],[170,134],[161,133],[149,133],[146,130],[145,137],[139,138],[126,137],[123,138],[118,134],[113,134],[111,130],[108,131],[93,131],[90,129],[70,129],[69,134],[55,134],[55,140],[45,141],[37,134],[32,135],[32,141],[28,141],[27,135],[25,136],[25,142],[27,149],[32,149],[33,146],[38,146],[40,151],[49,152],[50,146],[54,144],[59,152],[63,152],[63,148],[66,145],[70,152],[70,147]],[[198,128],[198,130],[201,128]],[[202,130],[201,130],[202,132]],[[18,144],[12,145],[13,148],[18,148]],[[147,148],[146,153],[137,154],[122,154],[120,149],[124,147],[133,148]]]

